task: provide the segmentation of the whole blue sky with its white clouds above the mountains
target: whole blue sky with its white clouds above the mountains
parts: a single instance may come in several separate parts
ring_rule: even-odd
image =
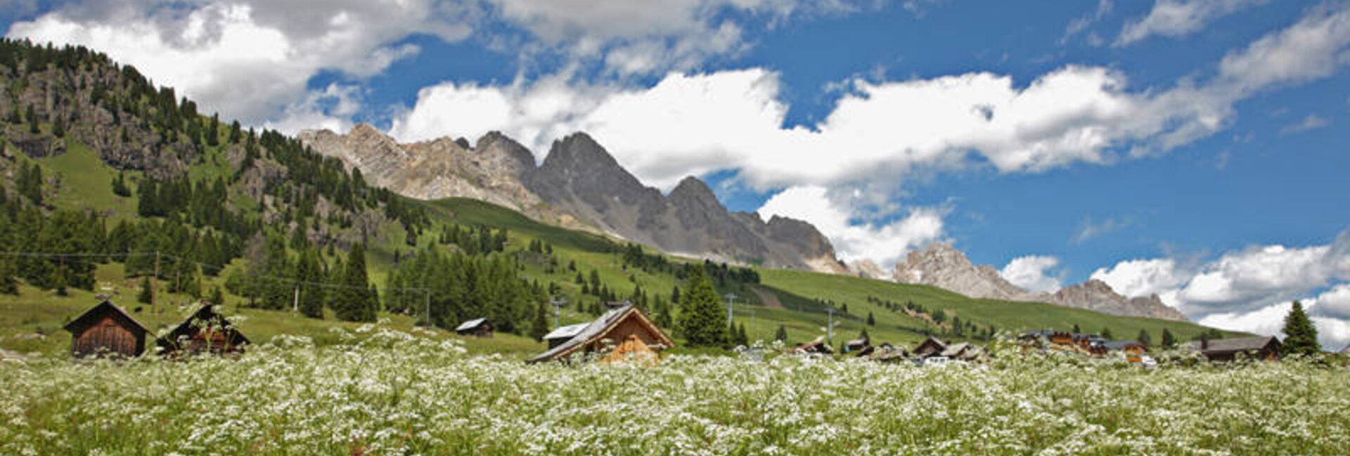
[[[401,140],[587,131],[645,182],[806,219],[883,268],[950,241],[1350,341],[1342,1],[0,0],[208,109]],[[1274,317],[1273,317],[1274,316]]]

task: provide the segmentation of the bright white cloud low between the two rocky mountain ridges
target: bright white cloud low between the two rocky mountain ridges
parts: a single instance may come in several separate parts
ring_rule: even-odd
[[[892,267],[909,250],[942,239],[941,208],[913,208],[891,223],[855,223],[852,213],[863,204],[856,194],[832,196],[821,186],[788,188],[757,210],[760,217],[784,216],[806,220],[834,244],[840,259],[872,259]]]

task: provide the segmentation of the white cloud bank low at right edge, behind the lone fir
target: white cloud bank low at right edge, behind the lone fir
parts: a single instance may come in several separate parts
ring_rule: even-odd
[[[1350,341],[1350,232],[1323,246],[1253,246],[1195,268],[1120,262],[1092,278],[1130,297],[1160,294],[1200,324],[1261,335],[1278,333],[1289,302],[1303,300],[1323,344]]]

